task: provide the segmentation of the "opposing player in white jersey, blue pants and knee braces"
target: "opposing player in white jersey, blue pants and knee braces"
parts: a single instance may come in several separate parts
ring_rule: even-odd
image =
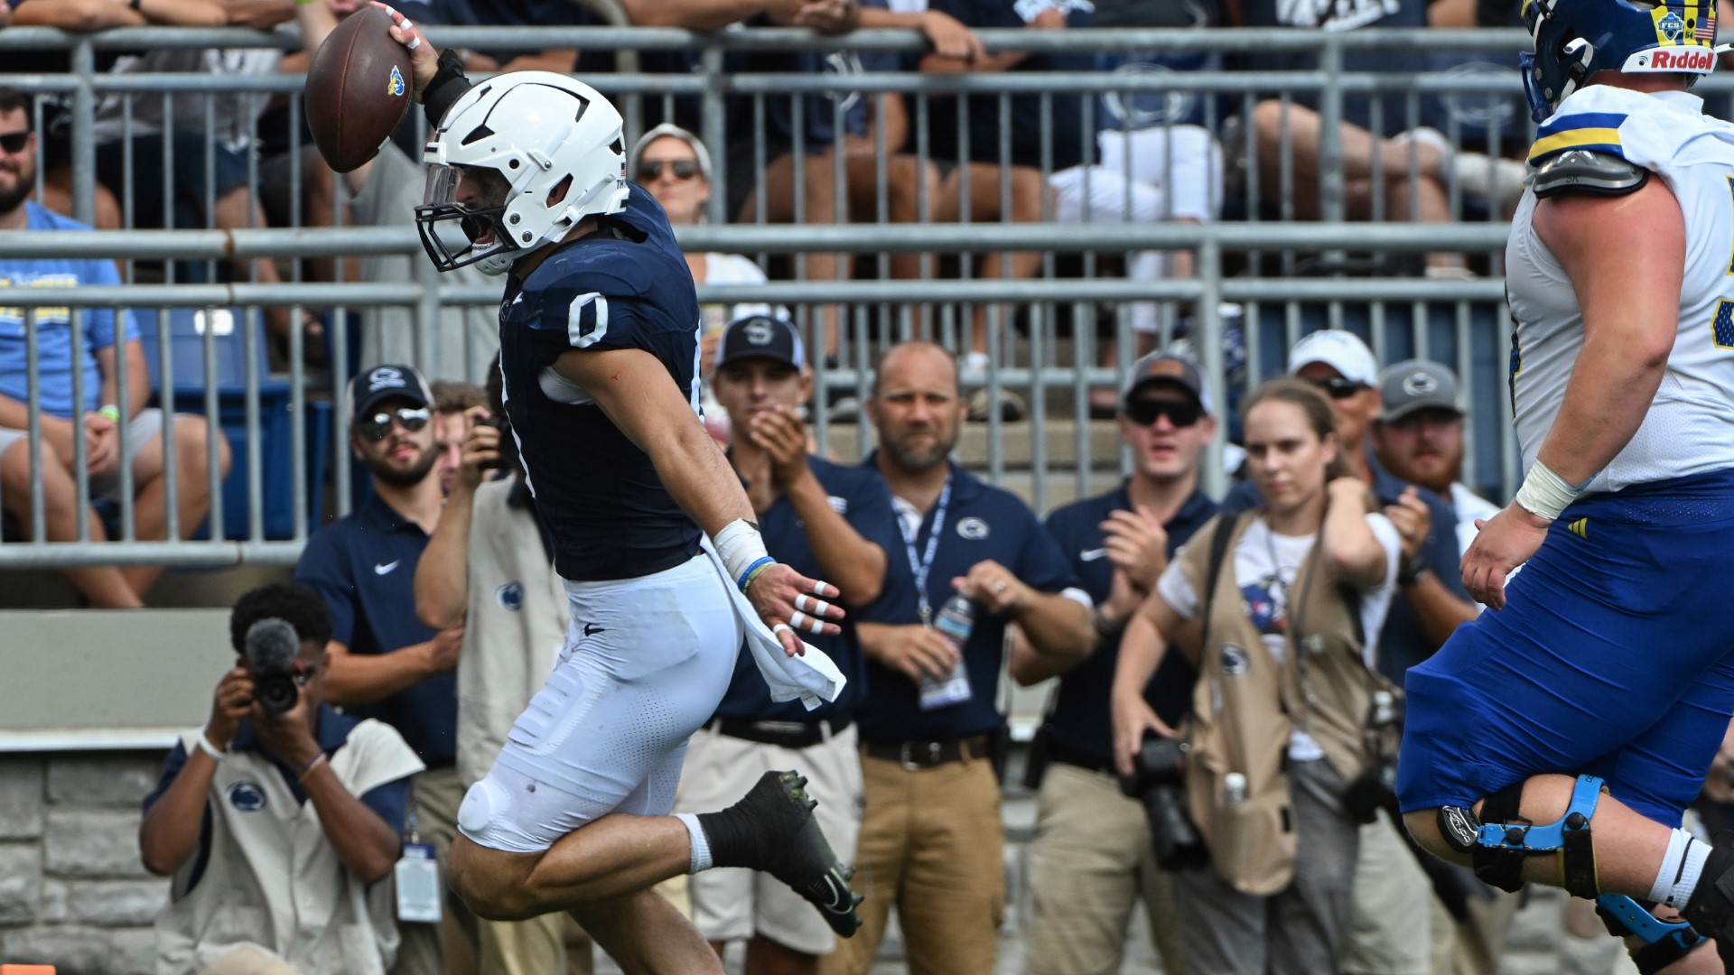
[[[1495,612],[1408,671],[1398,769],[1422,845],[1597,899],[1646,975],[1718,972],[1705,939],[1734,939],[1734,850],[1680,829],[1734,711],[1734,127],[1685,90],[1715,17],[1524,3],[1542,127],[1505,272],[1528,470],[1463,555]]]

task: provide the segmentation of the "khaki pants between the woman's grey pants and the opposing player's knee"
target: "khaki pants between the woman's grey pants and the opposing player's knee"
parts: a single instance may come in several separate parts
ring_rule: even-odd
[[[1380,812],[1361,826],[1354,900],[1342,946],[1344,975],[1429,975],[1432,970],[1432,883]]]

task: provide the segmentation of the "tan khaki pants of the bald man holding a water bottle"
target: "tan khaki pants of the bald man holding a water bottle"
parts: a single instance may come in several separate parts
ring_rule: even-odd
[[[896,904],[910,975],[994,975],[1006,834],[992,763],[971,758],[910,772],[864,756],[862,782],[862,930],[820,959],[820,973],[867,975]]]

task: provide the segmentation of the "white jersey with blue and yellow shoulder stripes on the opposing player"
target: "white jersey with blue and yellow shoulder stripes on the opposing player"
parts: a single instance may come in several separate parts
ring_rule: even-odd
[[[1703,115],[1703,99],[1685,92],[1590,85],[1542,125],[1529,163],[1566,149],[1611,153],[1651,170],[1685,215],[1685,279],[1668,371],[1632,442],[1588,489],[1734,467],[1734,125]],[[1512,413],[1526,472],[1583,349],[1576,293],[1531,226],[1535,206],[1535,193],[1524,193],[1505,250]],[[1620,227],[1606,232],[1607,246],[1621,246]]]

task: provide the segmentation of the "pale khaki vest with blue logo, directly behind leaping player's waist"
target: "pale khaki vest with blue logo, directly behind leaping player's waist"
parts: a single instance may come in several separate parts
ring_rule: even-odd
[[[553,671],[570,619],[536,517],[506,503],[512,486],[505,479],[477,488],[470,520],[470,609],[458,654],[458,781],[465,786],[494,767],[512,722]]]

